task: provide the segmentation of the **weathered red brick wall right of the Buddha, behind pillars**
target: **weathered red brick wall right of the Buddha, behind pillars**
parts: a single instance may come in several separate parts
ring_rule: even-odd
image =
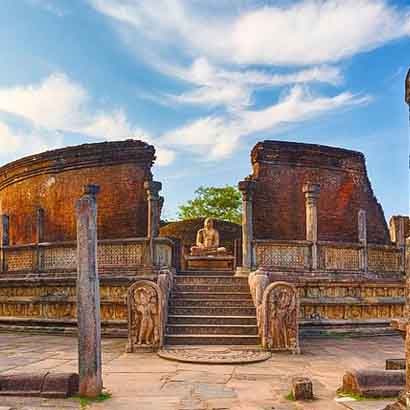
[[[264,141],[251,153],[257,181],[254,196],[256,239],[305,239],[306,182],[321,186],[319,240],[357,242],[357,213],[367,211],[368,241],[389,243],[383,209],[367,177],[363,154],[339,148]]]

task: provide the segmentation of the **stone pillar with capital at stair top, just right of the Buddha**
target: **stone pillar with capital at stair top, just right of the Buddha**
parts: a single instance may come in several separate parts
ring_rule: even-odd
[[[252,180],[240,181],[238,188],[242,193],[242,267],[237,273],[248,275],[253,268],[253,193],[256,182]]]

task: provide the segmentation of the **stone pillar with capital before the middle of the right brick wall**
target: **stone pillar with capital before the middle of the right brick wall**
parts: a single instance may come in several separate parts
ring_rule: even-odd
[[[318,232],[318,199],[320,194],[320,185],[306,183],[303,185],[303,193],[305,194],[306,208],[306,240],[312,242],[312,269],[318,268],[318,252],[317,252],[317,232]]]

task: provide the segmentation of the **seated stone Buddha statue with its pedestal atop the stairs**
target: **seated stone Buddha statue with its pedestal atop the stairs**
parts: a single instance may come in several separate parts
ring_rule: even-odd
[[[188,270],[226,271],[234,269],[233,256],[219,246],[219,232],[214,228],[214,221],[206,218],[204,227],[197,232],[196,244],[191,247],[189,256],[185,256]]]

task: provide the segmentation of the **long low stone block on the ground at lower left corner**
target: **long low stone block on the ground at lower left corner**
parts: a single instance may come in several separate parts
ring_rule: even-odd
[[[0,396],[66,398],[78,393],[76,373],[21,373],[0,375]]]

